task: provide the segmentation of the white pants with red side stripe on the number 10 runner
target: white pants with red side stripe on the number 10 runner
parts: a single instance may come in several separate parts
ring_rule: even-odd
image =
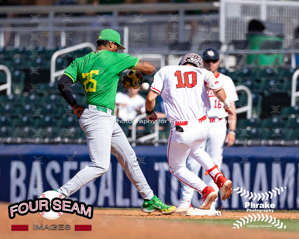
[[[208,185],[186,167],[186,159],[190,155],[207,171],[215,167],[209,154],[200,147],[208,137],[210,130],[209,119],[207,118],[202,122],[188,122],[187,125],[180,124],[184,132],[176,131],[175,122],[172,122],[171,126],[167,147],[169,171],[182,183],[201,193]],[[210,171],[210,175],[215,177],[216,173],[219,172],[218,168],[214,168]]]

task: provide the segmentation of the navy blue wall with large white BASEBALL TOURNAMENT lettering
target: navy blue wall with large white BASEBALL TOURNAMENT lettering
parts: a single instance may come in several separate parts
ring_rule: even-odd
[[[166,145],[136,146],[134,150],[144,175],[154,193],[167,204],[178,205],[181,183],[168,171]],[[12,203],[38,197],[57,189],[90,162],[86,144],[2,144],[0,145],[0,200]],[[258,193],[266,194],[263,203],[274,203],[275,209],[299,209],[299,149],[284,146],[248,146],[224,149],[222,171],[242,187],[241,197],[233,191],[222,206],[243,209],[245,202],[257,202]],[[202,170],[199,175],[203,175]],[[208,176],[202,176],[208,180]],[[281,188],[283,187],[283,192]],[[278,195],[278,190],[280,194]],[[272,191],[273,189],[273,191]],[[247,195],[247,190],[257,194]],[[271,193],[272,192],[272,199]],[[251,197],[250,200],[248,198]],[[124,171],[111,155],[109,170],[90,182],[70,199],[97,207],[140,207],[143,200]],[[261,198],[262,199],[262,198]],[[193,205],[201,204],[195,194]]]

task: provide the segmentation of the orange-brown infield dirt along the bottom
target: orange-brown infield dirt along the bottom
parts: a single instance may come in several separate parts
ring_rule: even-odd
[[[162,215],[159,213],[146,214],[135,209],[95,209],[91,220],[64,213],[55,220],[42,218],[38,213],[25,216],[16,215],[14,219],[8,217],[8,203],[0,203],[1,228],[0,238],[3,239],[32,239],[32,238],[105,238],[105,239],[174,239],[174,238],[299,238],[298,232],[289,232],[286,229],[233,229],[233,225],[213,223],[213,219],[238,219],[246,216],[246,212],[222,211],[221,217]],[[252,213],[251,213],[252,214]],[[299,219],[299,213],[273,212],[272,217],[277,219]],[[185,220],[187,219],[187,220]],[[203,219],[188,220],[188,219]],[[208,219],[211,221],[209,222]],[[29,231],[12,232],[11,225],[29,225]],[[33,231],[33,225],[70,225],[70,230],[40,230]],[[92,231],[74,231],[74,225],[92,225]]]

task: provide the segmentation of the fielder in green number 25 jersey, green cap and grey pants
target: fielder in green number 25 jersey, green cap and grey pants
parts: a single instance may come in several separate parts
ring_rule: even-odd
[[[153,194],[139,167],[135,152],[116,122],[116,116],[113,115],[120,74],[126,69],[133,69],[138,70],[137,77],[142,77],[154,73],[155,67],[128,54],[117,53],[118,49],[125,49],[120,44],[119,33],[112,29],[102,30],[97,39],[97,49],[75,59],[65,69],[58,82],[62,96],[80,117],[79,122],[86,134],[91,164],[79,171],[57,191],[69,197],[90,181],[103,175],[109,168],[112,153],[144,199],[142,211],[171,214],[176,207],[166,205]],[[78,105],[70,91],[69,85],[76,82],[82,84],[86,93],[86,106]]]

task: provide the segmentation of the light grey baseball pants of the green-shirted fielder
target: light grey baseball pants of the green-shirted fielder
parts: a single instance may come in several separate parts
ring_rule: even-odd
[[[79,122],[86,134],[91,164],[80,170],[57,191],[69,197],[87,183],[106,173],[110,165],[110,153],[112,153],[142,198],[152,199],[154,196],[152,189],[139,167],[135,152],[126,135],[116,122],[116,116],[111,115],[110,110],[105,113],[98,111],[96,106],[89,105],[89,108],[83,111]]]

